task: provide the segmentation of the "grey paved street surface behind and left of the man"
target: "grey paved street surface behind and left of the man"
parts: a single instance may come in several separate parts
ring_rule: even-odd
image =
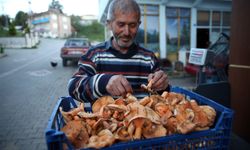
[[[0,149],[47,149],[45,129],[77,66],[62,67],[64,40],[41,39],[36,49],[5,49],[0,58]],[[58,65],[53,68],[50,61]],[[174,86],[192,87],[194,79],[170,79]]]

